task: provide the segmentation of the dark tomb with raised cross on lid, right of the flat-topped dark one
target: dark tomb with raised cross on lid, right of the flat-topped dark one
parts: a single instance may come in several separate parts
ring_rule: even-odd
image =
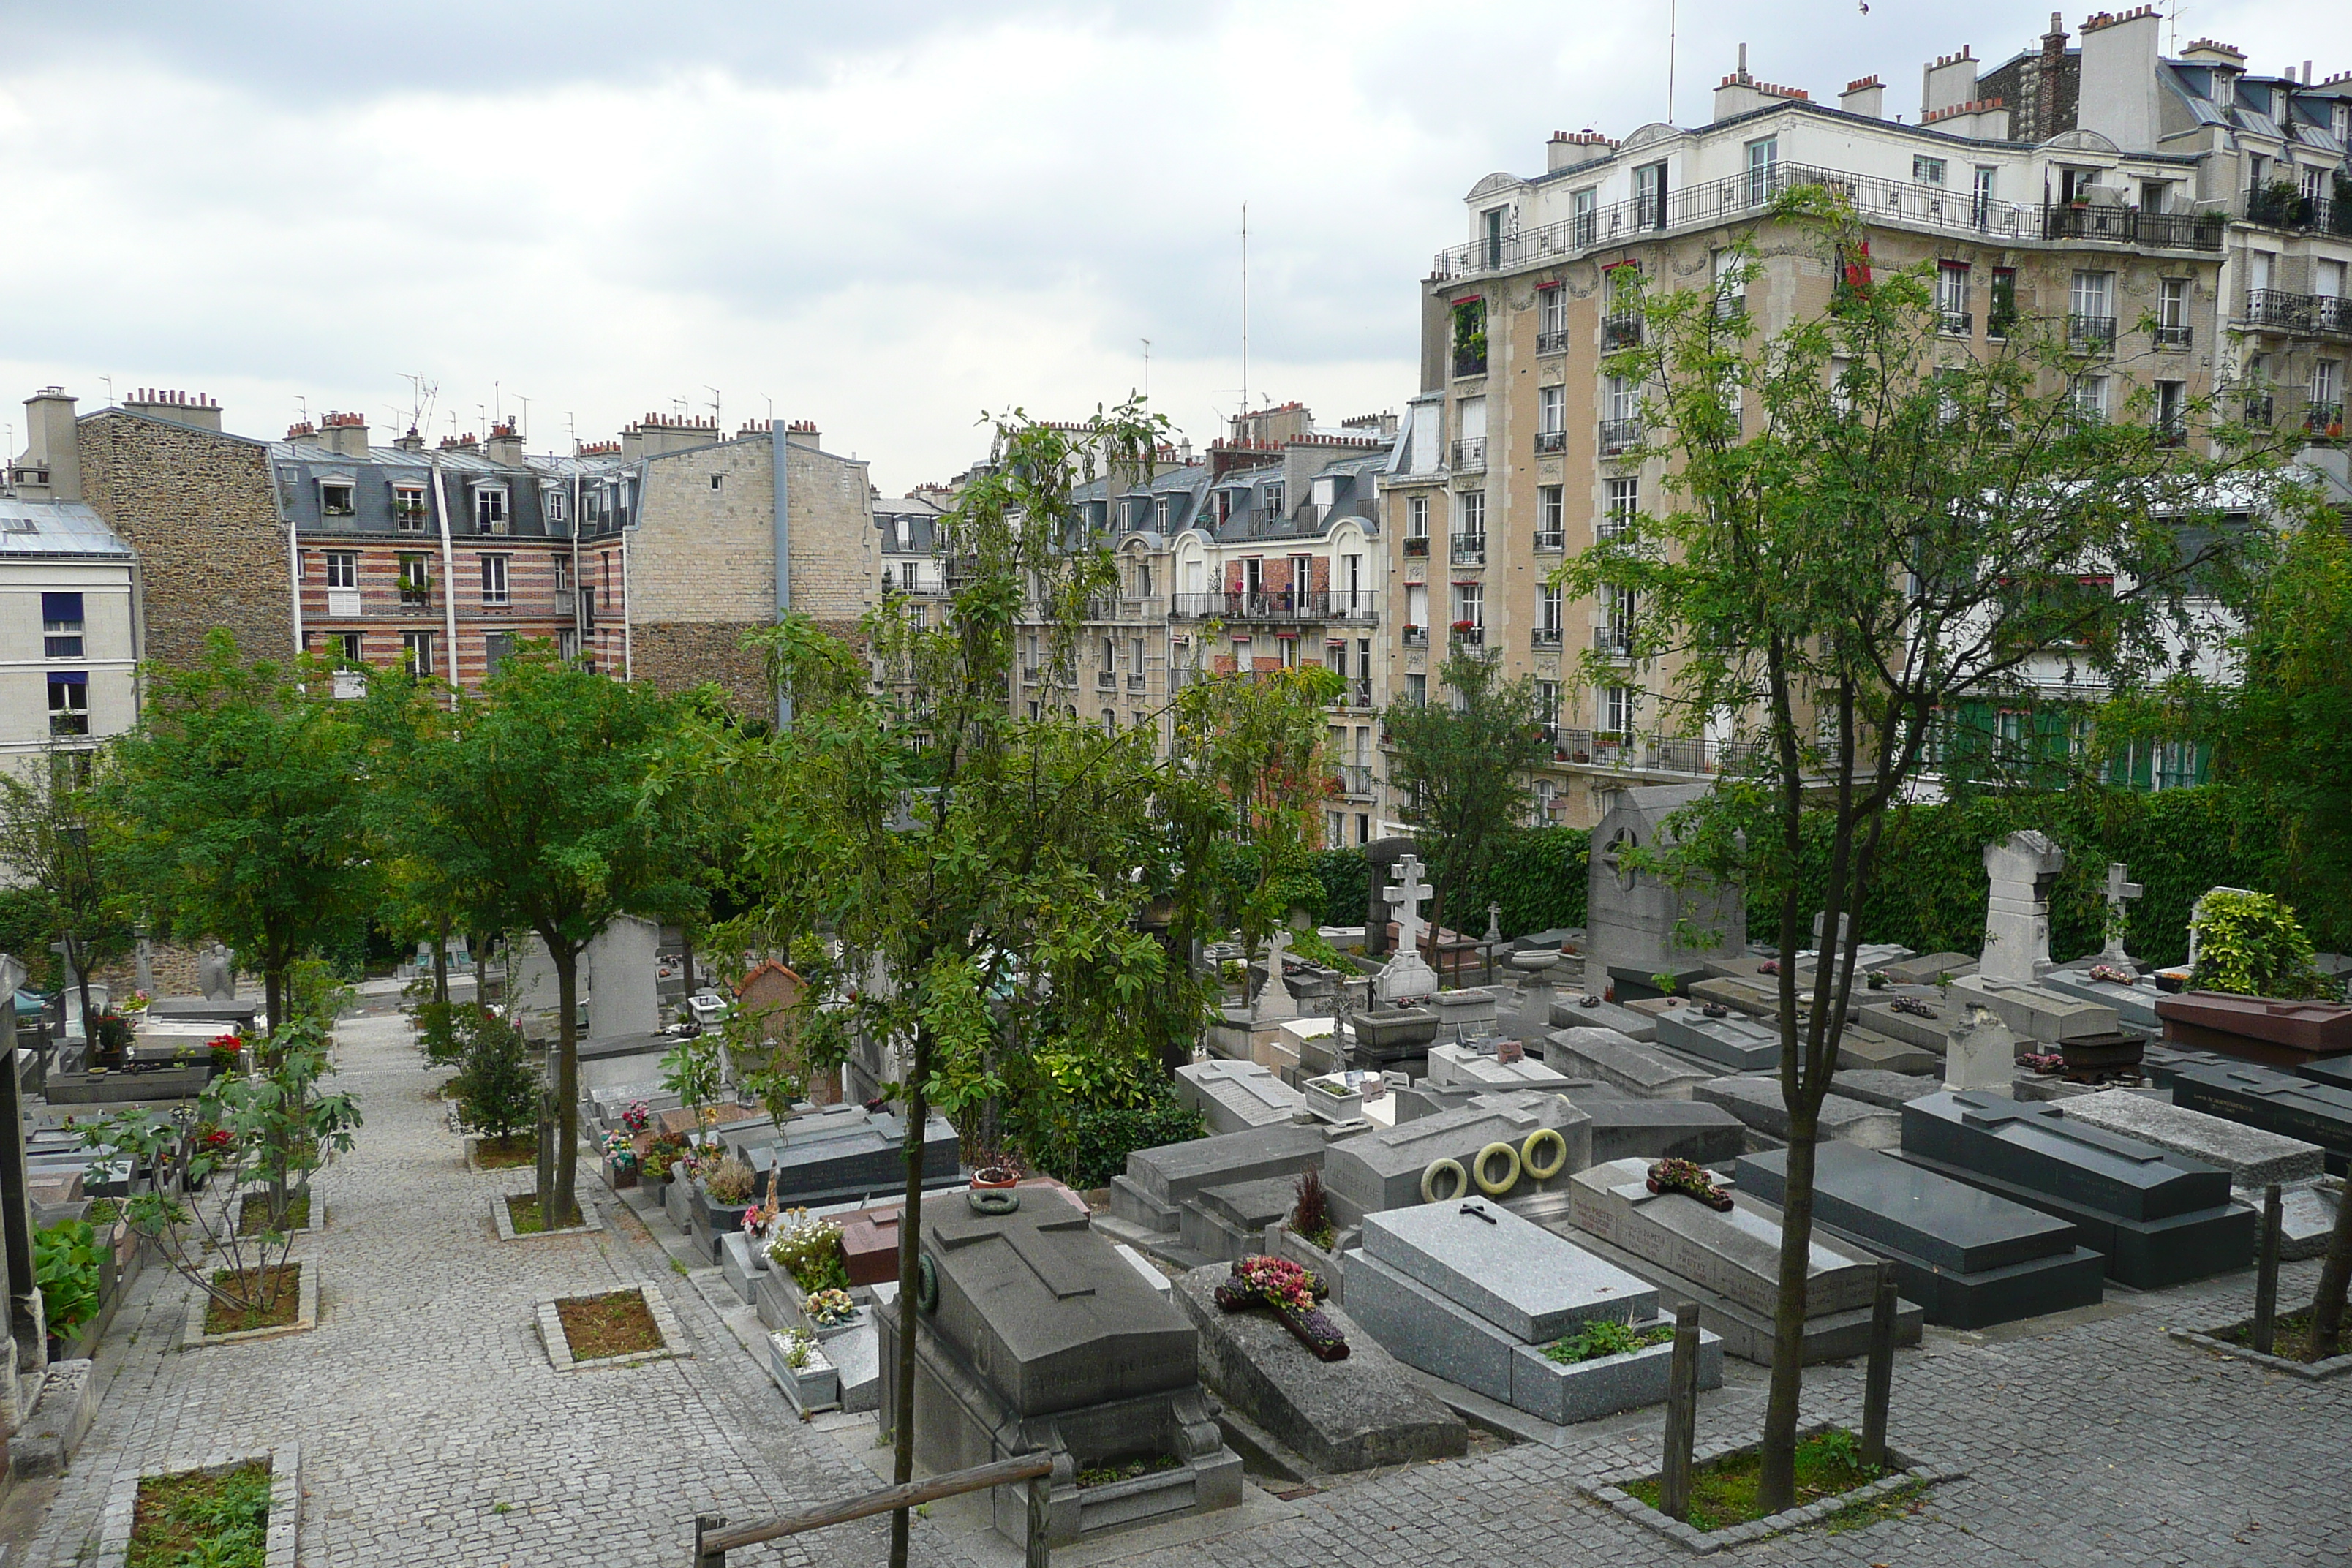
[[[1903,1107],[1903,1159],[2070,1220],[2117,1281],[2152,1291],[2246,1267],[2251,1208],[2230,1173],[2067,1121],[2056,1105],[1933,1093]]]

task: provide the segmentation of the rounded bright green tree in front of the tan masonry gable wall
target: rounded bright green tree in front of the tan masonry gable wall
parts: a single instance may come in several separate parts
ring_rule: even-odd
[[[240,663],[221,630],[151,679],[106,788],[118,877],[183,940],[235,947],[282,1023],[294,959],[346,945],[376,907],[360,729],[322,665]]]

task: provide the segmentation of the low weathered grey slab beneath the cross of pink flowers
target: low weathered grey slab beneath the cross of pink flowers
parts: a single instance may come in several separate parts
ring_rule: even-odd
[[[1451,1460],[1470,1429],[1336,1302],[1324,1314],[1348,1338],[1345,1361],[1317,1361],[1272,1312],[1225,1312],[1207,1265],[1176,1279],[1174,1300],[1200,1333],[1202,1380],[1308,1465],[1329,1474]]]

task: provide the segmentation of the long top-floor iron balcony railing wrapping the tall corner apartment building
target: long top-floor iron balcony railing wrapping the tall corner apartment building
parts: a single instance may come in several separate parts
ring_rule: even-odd
[[[2129,207],[2025,207],[2020,202],[1978,197],[1971,190],[1919,186],[1882,174],[1776,162],[1764,169],[1726,174],[1724,179],[1670,190],[1663,202],[1656,193],[1637,195],[1628,202],[1611,202],[1609,207],[1543,223],[1541,228],[1524,228],[1515,235],[1454,244],[1437,252],[1430,261],[1430,277],[1432,282],[1446,282],[1484,273],[1515,273],[1550,261],[1569,261],[1602,247],[1625,244],[1635,235],[1750,219],[1771,205],[1780,190],[1792,186],[1828,186],[1851,200],[1865,223],[1978,235],[1994,242],[2070,237],[2218,252],[2227,223],[2223,214],[2143,214]],[[2312,216],[2321,214],[2307,212],[2303,226],[2312,226]],[[2336,209],[2328,209],[2324,221],[2331,226],[2338,223]]]

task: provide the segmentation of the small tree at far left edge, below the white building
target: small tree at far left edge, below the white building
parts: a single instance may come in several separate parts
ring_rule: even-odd
[[[66,950],[66,973],[82,992],[82,1044],[96,1060],[89,964],[101,945],[120,940],[120,922],[108,910],[89,766],[89,752],[49,750],[31,757],[24,771],[0,769],[0,865],[19,879],[24,917],[38,919]]]

